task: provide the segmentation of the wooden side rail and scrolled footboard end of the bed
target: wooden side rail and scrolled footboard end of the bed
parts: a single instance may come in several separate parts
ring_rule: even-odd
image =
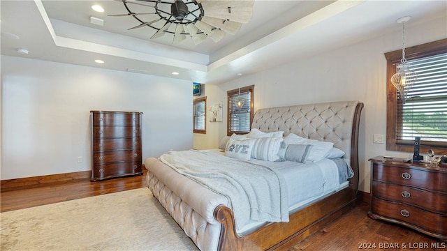
[[[214,217],[221,222],[219,250],[288,250],[325,224],[350,211],[353,190],[345,188],[290,215],[289,222],[272,222],[246,236],[235,230],[233,211],[219,206]]]

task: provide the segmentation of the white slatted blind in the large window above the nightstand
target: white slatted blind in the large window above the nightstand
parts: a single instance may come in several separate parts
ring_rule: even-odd
[[[447,53],[407,63],[418,79],[397,107],[397,139],[447,142]]]

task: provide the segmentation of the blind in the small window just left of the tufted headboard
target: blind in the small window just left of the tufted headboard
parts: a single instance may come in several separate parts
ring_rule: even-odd
[[[241,98],[244,105],[237,109],[235,102]],[[241,91],[228,95],[228,129],[230,132],[250,132],[251,91]]]

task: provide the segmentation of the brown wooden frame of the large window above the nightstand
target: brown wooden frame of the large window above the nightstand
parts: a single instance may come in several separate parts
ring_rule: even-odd
[[[447,52],[447,38],[405,48],[405,58],[407,60],[413,60],[445,52]],[[397,72],[396,64],[400,63],[400,59],[402,59],[402,49],[385,53],[385,58],[387,61],[386,150],[413,152],[414,140],[396,139],[397,123],[399,123],[397,121],[397,105],[402,105],[402,102],[397,102],[397,91],[391,83],[391,77]],[[428,149],[432,149],[436,154],[447,154],[446,142],[421,141],[420,153],[427,153]]]

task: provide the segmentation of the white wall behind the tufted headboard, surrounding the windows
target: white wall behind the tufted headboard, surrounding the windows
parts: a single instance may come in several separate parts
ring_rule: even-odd
[[[407,24],[405,32],[407,47],[447,38],[446,17],[424,24]],[[389,152],[386,151],[385,144],[372,143],[374,134],[386,135],[387,79],[386,59],[383,54],[400,48],[402,48],[402,31],[397,30],[374,40],[324,52],[307,59],[299,59],[262,73],[220,84],[217,86],[220,90],[214,93],[220,93],[219,95],[225,96],[226,99],[226,91],[254,84],[255,111],[264,107],[315,102],[342,100],[363,102],[365,107],[361,116],[359,140],[359,189],[369,192],[369,158],[376,155],[409,158],[411,155],[411,153]],[[206,86],[208,87],[208,84]],[[207,97],[207,102],[222,99],[221,96],[214,96],[214,93]],[[207,128],[207,135],[213,139],[226,135],[226,118],[223,125],[215,130],[219,132]],[[195,140],[196,137],[198,136],[194,135]]]

